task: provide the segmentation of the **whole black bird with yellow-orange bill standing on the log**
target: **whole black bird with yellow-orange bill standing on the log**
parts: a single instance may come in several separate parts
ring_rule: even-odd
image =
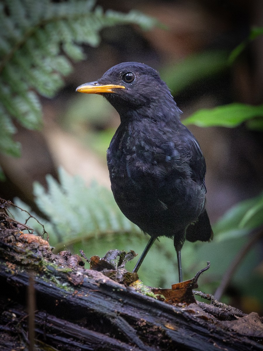
[[[184,240],[209,241],[213,232],[205,210],[205,160],[194,135],[181,123],[177,107],[158,72],[138,62],[110,68],[76,91],[103,95],[121,123],[107,150],[112,191],[123,214],[150,240],[174,238],[179,281]]]

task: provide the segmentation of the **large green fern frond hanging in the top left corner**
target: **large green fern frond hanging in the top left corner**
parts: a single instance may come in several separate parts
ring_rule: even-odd
[[[94,4],[93,0],[0,3],[0,108],[6,118],[39,128],[41,111],[35,93],[52,97],[61,88],[63,76],[71,70],[69,59],[84,58],[80,44],[97,46],[104,27],[137,24],[150,28],[156,24],[140,13],[93,10]],[[0,151],[7,152],[9,148],[2,144]]]

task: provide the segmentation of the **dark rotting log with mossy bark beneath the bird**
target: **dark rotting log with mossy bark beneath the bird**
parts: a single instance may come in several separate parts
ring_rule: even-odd
[[[69,269],[44,241],[29,243],[10,228],[0,234],[3,351],[33,350],[33,343],[62,351],[263,350],[256,313],[223,304],[168,304],[83,269],[81,260],[71,259],[76,266]]]

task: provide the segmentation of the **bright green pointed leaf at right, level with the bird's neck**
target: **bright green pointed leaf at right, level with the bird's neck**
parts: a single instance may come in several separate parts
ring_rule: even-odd
[[[199,127],[236,127],[248,119],[263,116],[263,105],[229,104],[195,112],[182,122],[185,125],[195,124]]]

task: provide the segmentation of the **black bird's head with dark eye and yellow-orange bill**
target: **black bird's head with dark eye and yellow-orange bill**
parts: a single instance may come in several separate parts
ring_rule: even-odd
[[[113,66],[100,79],[82,84],[76,91],[103,95],[121,118],[134,111],[149,117],[153,117],[154,112],[160,118],[163,113],[177,117],[181,113],[159,73],[138,62]]]

